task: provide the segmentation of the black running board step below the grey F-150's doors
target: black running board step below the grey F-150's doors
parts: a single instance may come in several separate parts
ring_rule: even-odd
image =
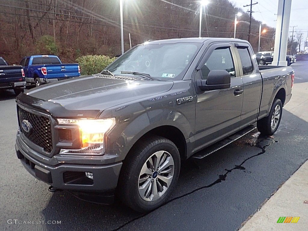
[[[191,156],[192,158],[196,158],[196,159],[202,159],[205,156],[208,156],[209,154],[212,154],[213,152],[216,152],[217,150],[227,146],[228,144],[231,144],[233,141],[241,138],[242,136],[245,136],[246,134],[248,134],[249,132],[253,131],[254,129],[256,129],[255,126],[250,125],[244,129],[242,129],[241,131],[238,131],[237,133],[234,133],[233,135],[215,143],[212,144],[211,146],[203,149],[202,151],[197,152],[196,154],[194,154],[193,156]]]

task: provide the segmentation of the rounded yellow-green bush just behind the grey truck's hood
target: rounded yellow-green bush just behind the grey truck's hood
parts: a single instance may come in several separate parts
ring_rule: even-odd
[[[85,55],[76,59],[81,69],[81,75],[92,75],[105,69],[116,58],[110,58],[106,55]]]

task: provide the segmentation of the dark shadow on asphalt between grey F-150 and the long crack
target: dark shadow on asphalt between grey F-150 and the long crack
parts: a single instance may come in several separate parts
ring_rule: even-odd
[[[198,190],[221,183],[233,170],[245,170],[241,165],[246,160],[263,154],[265,147],[274,142],[271,137],[260,136],[260,133],[255,131],[228,147],[218,150],[215,155],[206,156],[201,160],[189,159],[185,161],[181,166],[180,177],[170,199],[150,213],[137,213],[117,199],[113,205],[99,205],[79,200],[68,192],[56,192],[42,213],[45,220],[52,218],[52,220],[61,221],[61,224],[47,225],[46,228],[47,230],[55,230],[55,226],[57,226],[57,230],[110,231],[122,228],[124,230],[129,228],[125,227],[126,225],[147,215],[150,220],[148,222],[155,223],[154,220],[152,221],[152,217],[161,213],[162,210],[169,209],[167,204]],[[172,210],[172,206],[170,209]]]

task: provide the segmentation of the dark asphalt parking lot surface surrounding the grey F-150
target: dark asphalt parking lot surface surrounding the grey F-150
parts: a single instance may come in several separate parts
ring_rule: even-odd
[[[308,82],[308,62],[291,67],[295,88]],[[13,91],[0,93],[0,230],[237,230],[308,159],[308,123],[284,110],[274,136],[254,130],[202,160],[183,163],[169,201],[150,213],[136,213],[119,201],[92,204],[67,192],[50,193],[22,167],[14,150],[14,97]],[[8,224],[9,219],[61,224]]]

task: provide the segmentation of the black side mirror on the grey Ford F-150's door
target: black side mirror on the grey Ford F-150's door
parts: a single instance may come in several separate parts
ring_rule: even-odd
[[[207,80],[198,79],[197,86],[201,91],[230,88],[231,75],[228,71],[210,71]]]

